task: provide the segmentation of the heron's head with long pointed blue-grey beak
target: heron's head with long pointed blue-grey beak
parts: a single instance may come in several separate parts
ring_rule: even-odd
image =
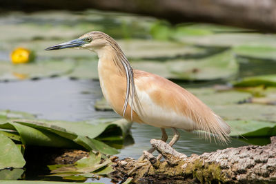
[[[88,49],[95,52],[103,50],[103,48],[110,47],[110,45],[115,42],[107,34],[99,31],[92,31],[83,34],[78,39],[73,39],[71,41],[66,41],[57,45],[53,45],[46,50],[59,50],[63,48],[78,48],[78,49]],[[115,42],[116,43],[116,42]]]

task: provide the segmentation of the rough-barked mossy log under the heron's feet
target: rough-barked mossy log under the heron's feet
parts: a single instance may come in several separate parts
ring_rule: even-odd
[[[189,157],[163,141],[152,139],[151,144],[164,161],[144,152],[148,165],[128,174],[139,163],[130,158],[118,160],[114,176],[132,177],[134,183],[276,183],[276,136],[265,146],[230,147]]]

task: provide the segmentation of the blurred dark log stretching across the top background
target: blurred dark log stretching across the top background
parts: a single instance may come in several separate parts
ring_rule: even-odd
[[[3,10],[112,10],[150,15],[172,23],[208,22],[276,32],[275,0],[9,0]]]

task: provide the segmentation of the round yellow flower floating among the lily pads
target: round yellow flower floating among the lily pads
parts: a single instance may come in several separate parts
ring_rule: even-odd
[[[10,54],[10,59],[14,64],[28,63],[34,60],[34,52],[26,48],[16,48]]]

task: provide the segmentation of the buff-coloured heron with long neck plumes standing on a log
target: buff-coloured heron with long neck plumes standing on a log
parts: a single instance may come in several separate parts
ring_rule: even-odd
[[[46,50],[65,48],[96,52],[101,91],[112,109],[128,121],[159,127],[164,142],[168,139],[166,128],[172,128],[174,135],[168,143],[170,146],[179,139],[177,129],[199,130],[206,139],[211,140],[213,135],[220,143],[228,143],[230,126],[220,116],[176,83],[150,72],[132,69],[118,43],[108,34],[88,32]],[[148,150],[150,153],[154,151],[153,147]],[[142,155],[140,160],[143,159]]]

